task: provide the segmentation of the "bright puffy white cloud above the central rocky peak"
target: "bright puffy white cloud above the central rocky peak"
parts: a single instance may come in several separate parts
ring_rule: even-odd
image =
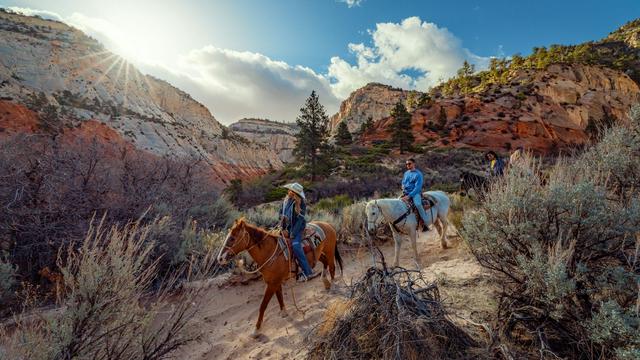
[[[486,67],[488,58],[462,47],[449,30],[410,17],[401,23],[379,23],[369,32],[372,46],[349,44],[356,57],[352,65],[340,57],[331,58],[328,77],[334,93],[345,98],[353,90],[381,82],[405,89],[426,90],[460,68],[464,60]]]

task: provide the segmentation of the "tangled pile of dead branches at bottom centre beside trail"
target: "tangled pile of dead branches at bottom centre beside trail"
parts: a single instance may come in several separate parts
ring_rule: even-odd
[[[384,264],[369,268],[350,300],[329,309],[317,335],[310,359],[463,358],[476,345],[448,319],[436,284]]]

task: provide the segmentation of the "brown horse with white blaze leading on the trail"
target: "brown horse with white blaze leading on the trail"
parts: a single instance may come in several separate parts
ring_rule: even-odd
[[[327,280],[327,268],[333,281],[336,272],[336,260],[340,265],[342,272],[342,258],[338,252],[336,230],[330,224],[321,221],[313,221],[312,223],[320,226],[326,237],[318,244],[314,252],[307,254],[309,265],[313,268],[320,261],[324,265],[322,270],[322,280],[325,289],[331,288],[331,282]],[[229,234],[225,239],[224,245],[218,255],[218,261],[225,264],[232,257],[242,251],[248,251],[249,255],[258,265],[258,270],[262,274],[262,280],[267,284],[267,288],[260,304],[260,315],[256,323],[256,329],[253,336],[259,335],[260,326],[264,317],[264,311],[271,301],[273,294],[276,294],[278,303],[280,304],[280,313],[283,317],[287,316],[282,297],[282,284],[289,279],[293,273],[291,272],[291,262],[293,259],[289,254],[286,259],[284,252],[278,246],[278,234],[264,230],[260,227],[247,223],[244,218],[238,219],[233,223],[229,230]]]

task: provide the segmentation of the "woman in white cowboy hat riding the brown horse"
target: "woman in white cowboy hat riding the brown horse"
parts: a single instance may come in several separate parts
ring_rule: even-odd
[[[300,267],[302,267],[302,281],[311,280],[320,275],[320,273],[311,270],[307,257],[304,255],[304,250],[302,249],[302,235],[307,225],[307,221],[304,218],[307,210],[304,189],[302,188],[302,185],[298,183],[287,184],[284,188],[289,191],[287,192],[287,196],[284,198],[282,210],[280,211],[282,235],[287,240],[291,240],[293,254],[296,259],[298,259]]]

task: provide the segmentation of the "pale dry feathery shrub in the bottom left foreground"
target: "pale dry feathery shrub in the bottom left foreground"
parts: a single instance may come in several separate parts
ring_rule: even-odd
[[[25,312],[2,329],[10,359],[161,359],[197,339],[202,289],[173,295],[151,254],[154,223],[90,226],[79,246],[66,246],[58,311]],[[211,252],[210,252],[211,254]],[[211,256],[199,262],[210,268]],[[208,264],[208,265],[207,265]],[[190,269],[193,278],[206,271]]]

